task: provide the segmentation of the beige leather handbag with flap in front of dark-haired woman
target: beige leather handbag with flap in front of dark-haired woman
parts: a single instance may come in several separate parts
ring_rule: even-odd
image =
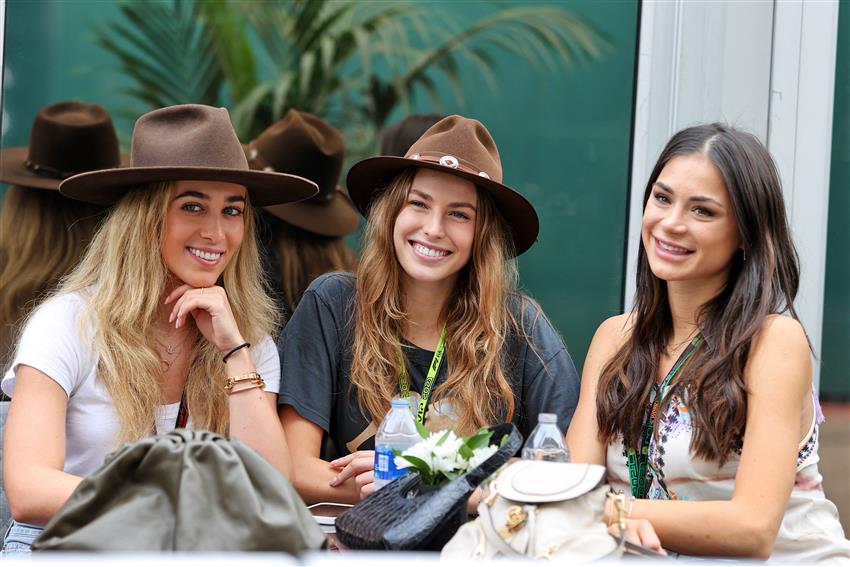
[[[605,467],[599,465],[513,463],[492,483],[478,518],[458,530],[441,558],[618,559],[624,540],[612,537],[605,525],[604,481]]]

